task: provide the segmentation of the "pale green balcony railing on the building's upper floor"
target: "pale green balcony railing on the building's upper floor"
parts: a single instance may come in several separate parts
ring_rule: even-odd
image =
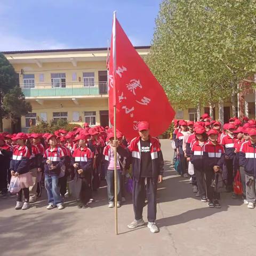
[[[25,97],[107,95],[107,82],[20,84]]]

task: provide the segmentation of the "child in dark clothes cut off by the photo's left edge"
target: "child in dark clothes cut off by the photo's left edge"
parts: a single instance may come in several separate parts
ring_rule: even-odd
[[[10,161],[12,157],[12,148],[6,144],[3,134],[0,134],[0,191],[1,198],[7,198],[7,180]]]

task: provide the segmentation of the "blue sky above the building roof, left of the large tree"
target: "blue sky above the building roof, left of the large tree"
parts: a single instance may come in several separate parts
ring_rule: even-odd
[[[149,45],[161,0],[0,0],[0,51],[107,47],[113,11]]]

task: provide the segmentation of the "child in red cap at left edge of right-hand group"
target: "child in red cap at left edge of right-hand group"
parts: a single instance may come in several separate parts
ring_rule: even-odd
[[[184,178],[188,178],[189,176],[187,173],[187,161],[185,159],[185,155],[184,155],[183,148],[182,148],[184,136],[185,136],[185,134],[187,134],[187,131],[188,131],[188,124],[184,120],[180,121],[179,124],[180,124],[181,130],[176,135],[175,145],[177,148],[177,156],[180,159],[180,167],[181,167],[181,171],[182,171],[182,176]]]

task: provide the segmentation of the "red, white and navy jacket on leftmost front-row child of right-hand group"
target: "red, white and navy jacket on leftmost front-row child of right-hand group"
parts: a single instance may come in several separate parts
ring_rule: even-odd
[[[199,145],[199,140],[195,140],[191,146],[190,162],[194,165],[194,168],[198,171],[203,171],[203,156],[204,145],[207,141],[204,141],[203,145]]]

